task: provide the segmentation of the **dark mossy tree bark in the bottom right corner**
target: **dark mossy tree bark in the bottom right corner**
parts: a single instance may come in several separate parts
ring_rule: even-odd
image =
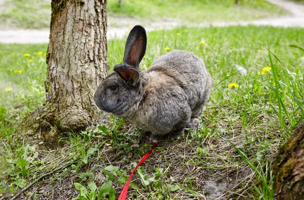
[[[273,170],[276,199],[304,199],[304,122],[280,147]]]

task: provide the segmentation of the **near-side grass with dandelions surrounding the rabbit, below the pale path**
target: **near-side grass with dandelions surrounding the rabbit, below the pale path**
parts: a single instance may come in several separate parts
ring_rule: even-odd
[[[213,90],[199,130],[161,142],[134,174],[128,196],[272,199],[271,163],[280,143],[304,116],[304,52],[289,46],[304,46],[302,32],[300,28],[255,26],[148,32],[142,70],[168,51],[186,49],[204,60]],[[122,61],[124,44],[125,40],[108,42],[111,66]],[[98,192],[101,198],[110,198],[113,187],[118,196],[134,163],[151,148],[140,130],[122,119],[105,114],[108,123],[65,133],[52,145],[13,140],[20,118],[45,103],[46,64],[37,52],[46,48],[0,45],[0,193],[7,188],[14,195],[18,188],[63,166],[24,195],[56,199]],[[34,55],[32,63],[24,53]],[[243,66],[247,75],[235,65]],[[19,69],[22,73],[14,72]],[[230,83],[238,86],[230,88]],[[4,91],[7,87],[13,90]]]

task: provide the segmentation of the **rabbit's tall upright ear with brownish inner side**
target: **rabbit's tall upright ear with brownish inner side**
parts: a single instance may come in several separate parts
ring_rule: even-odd
[[[139,69],[147,45],[147,35],[142,26],[136,25],[129,33],[125,46],[124,63]]]

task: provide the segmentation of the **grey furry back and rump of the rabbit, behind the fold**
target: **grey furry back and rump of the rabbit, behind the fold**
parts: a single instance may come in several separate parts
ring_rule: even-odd
[[[187,51],[175,50],[157,59],[148,68],[147,73],[155,71],[176,81],[187,96],[192,111],[191,118],[197,118],[211,92],[211,77],[203,61]]]

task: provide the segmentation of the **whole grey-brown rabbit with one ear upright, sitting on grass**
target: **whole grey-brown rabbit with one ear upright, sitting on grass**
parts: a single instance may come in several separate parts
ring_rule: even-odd
[[[136,25],[127,38],[123,63],[97,87],[97,107],[150,132],[154,142],[160,136],[183,134],[186,127],[196,130],[212,87],[203,61],[175,50],[141,72],[146,43],[145,29]]]

